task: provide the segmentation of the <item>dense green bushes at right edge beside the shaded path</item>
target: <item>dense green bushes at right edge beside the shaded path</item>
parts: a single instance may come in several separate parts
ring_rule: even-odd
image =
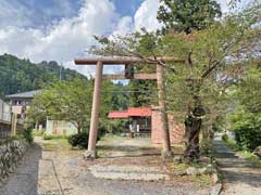
[[[250,65],[250,64],[249,64]],[[252,152],[261,145],[261,70],[252,67],[233,88],[236,110],[228,117],[236,142],[243,150]]]

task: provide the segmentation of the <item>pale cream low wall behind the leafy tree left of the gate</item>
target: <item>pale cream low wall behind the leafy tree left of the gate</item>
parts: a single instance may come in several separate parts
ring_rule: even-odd
[[[69,121],[62,120],[47,120],[46,134],[47,135],[72,135],[76,134],[76,127]]]

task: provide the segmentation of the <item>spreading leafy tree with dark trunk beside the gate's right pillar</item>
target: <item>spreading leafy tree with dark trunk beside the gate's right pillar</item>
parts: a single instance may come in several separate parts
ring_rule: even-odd
[[[214,1],[183,1],[181,4],[187,2],[209,4]],[[207,21],[206,26],[189,24],[191,26],[188,29],[163,35],[142,30],[113,40],[100,38],[101,47],[96,48],[94,53],[135,56],[142,60],[144,64],[154,63],[165,68],[167,112],[185,120],[186,153],[190,156],[191,152],[191,156],[197,157],[202,123],[210,127],[211,131],[216,123],[221,123],[226,113],[227,87],[241,77],[247,69],[247,62],[258,57],[256,53],[261,35],[257,24],[261,22],[260,11],[259,3],[216,22],[215,14],[207,17],[201,11],[211,25]],[[176,13],[178,10],[171,14]],[[170,21],[178,24],[172,17]],[[203,18],[198,22],[204,24]],[[167,22],[165,24],[169,25]],[[164,63],[158,56],[178,57],[187,63]]]

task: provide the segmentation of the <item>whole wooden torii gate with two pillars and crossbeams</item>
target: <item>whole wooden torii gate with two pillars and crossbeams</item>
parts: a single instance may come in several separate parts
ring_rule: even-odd
[[[98,122],[99,122],[99,113],[100,113],[100,98],[101,98],[101,82],[102,82],[102,70],[103,65],[125,65],[125,74],[120,75],[104,75],[105,79],[140,79],[140,80],[157,80],[158,83],[158,98],[159,98],[159,108],[161,110],[161,120],[162,120],[162,134],[163,134],[163,144],[162,144],[162,155],[172,156],[171,145],[170,145],[170,132],[169,132],[169,121],[165,113],[165,84],[163,80],[163,70],[164,67],[161,63],[185,63],[184,60],[175,57],[157,57],[142,60],[139,57],[97,57],[97,58],[75,58],[76,65],[96,65],[96,75],[95,75],[95,89],[94,89],[94,99],[92,99],[92,108],[91,108],[91,119],[90,119],[90,130],[89,130],[89,142],[88,151],[85,153],[86,158],[96,158],[96,142],[98,135]],[[160,63],[161,62],[161,63]],[[151,64],[157,66],[156,74],[134,74],[126,75],[126,69],[135,64]]]

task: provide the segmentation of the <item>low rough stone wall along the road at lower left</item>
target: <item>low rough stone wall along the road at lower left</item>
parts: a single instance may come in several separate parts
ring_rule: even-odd
[[[7,141],[0,144],[0,180],[13,172],[17,162],[26,152],[25,141]]]

